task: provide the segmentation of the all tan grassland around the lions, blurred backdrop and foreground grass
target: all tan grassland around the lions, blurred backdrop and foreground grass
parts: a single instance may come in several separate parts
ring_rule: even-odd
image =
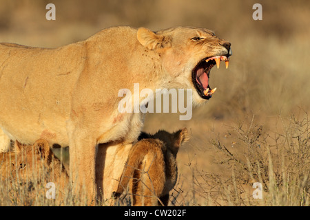
[[[171,204],[309,206],[309,1],[264,1],[262,21],[251,18],[256,1],[55,0],[56,21],[45,20],[47,3],[0,0],[0,41],[57,47],[113,25],[192,25],[231,42],[229,69],[211,71],[211,87],[218,90],[192,120],[146,116],[150,133],[192,131],[178,154]],[[262,183],[263,199],[253,199],[254,182]],[[0,185],[1,205],[57,205],[44,193],[28,201],[26,186],[10,197],[8,186]],[[69,194],[62,204],[83,205],[79,199]]]

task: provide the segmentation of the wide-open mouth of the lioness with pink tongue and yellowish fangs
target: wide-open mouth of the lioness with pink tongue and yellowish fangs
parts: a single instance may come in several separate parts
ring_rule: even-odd
[[[216,65],[219,68],[220,61],[225,61],[227,69],[229,65],[229,58],[227,58],[227,56],[212,56],[203,58],[203,60],[201,60],[193,69],[192,80],[201,98],[208,100],[216,91],[216,88],[211,89],[209,86],[209,78],[212,67]]]

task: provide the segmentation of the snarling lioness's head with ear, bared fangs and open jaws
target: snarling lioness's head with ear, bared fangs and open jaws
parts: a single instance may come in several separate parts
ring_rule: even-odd
[[[162,66],[172,78],[169,87],[193,89],[193,102],[209,100],[216,89],[211,89],[209,76],[214,65],[225,61],[228,67],[231,44],[218,39],[205,28],[169,28],[152,32],[139,28],[138,41],[148,50],[161,55]]]

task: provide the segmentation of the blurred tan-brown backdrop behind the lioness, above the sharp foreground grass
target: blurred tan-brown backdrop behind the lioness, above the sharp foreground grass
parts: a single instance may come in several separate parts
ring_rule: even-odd
[[[56,21],[45,19],[48,3],[56,5]],[[262,21],[252,19],[254,3],[262,5]],[[194,159],[201,169],[216,170],[208,143],[214,135],[224,137],[227,125],[254,119],[272,129],[279,115],[291,118],[309,112],[308,0],[0,0],[0,42],[59,47],[115,25],[154,31],[203,27],[231,42],[229,69],[223,63],[212,69],[211,86],[218,90],[207,104],[194,109],[192,120],[179,121],[177,113],[146,116],[145,131],[187,126],[192,133],[178,157],[185,179]]]

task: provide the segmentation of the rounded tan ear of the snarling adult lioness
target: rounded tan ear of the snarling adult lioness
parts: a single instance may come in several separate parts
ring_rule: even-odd
[[[167,45],[163,35],[155,34],[147,28],[139,28],[136,37],[138,41],[149,50],[154,50],[158,47],[165,47],[165,45]]]

